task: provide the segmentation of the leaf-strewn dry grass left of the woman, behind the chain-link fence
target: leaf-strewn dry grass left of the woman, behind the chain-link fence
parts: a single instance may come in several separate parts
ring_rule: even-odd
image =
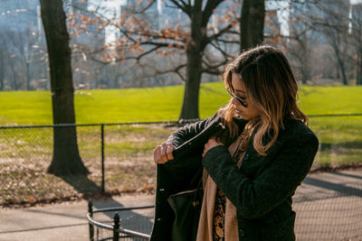
[[[152,191],[156,183],[153,149],[174,130],[176,127],[160,128],[159,125],[106,126],[106,194]],[[0,147],[6,150],[0,157],[0,182],[5,183],[0,186],[0,206],[34,205],[100,194],[100,131],[94,127],[78,128],[81,158],[91,172],[87,177],[57,177],[46,173],[52,161],[51,131],[22,129],[12,132],[10,136],[14,142],[1,142]],[[35,142],[31,141],[31,135]],[[38,135],[43,138],[36,137]]]

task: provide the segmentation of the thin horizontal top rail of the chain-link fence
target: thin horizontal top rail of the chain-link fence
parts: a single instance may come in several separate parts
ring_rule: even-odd
[[[362,116],[362,113],[351,114],[320,114],[308,115],[308,117],[343,117],[343,116]],[[52,127],[78,127],[78,126],[101,126],[101,125],[183,125],[194,123],[200,119],[180,120],[180,121],[149,121],[149,122],[119,122],[119,123],[92,123],[92,124],[53,124],[53,125],[0,125],[0,129],[26,129],[26,128],[52,128]]]

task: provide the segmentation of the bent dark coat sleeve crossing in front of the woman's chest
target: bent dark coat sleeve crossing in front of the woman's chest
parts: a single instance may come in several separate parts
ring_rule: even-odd
[[[269,166],[253,180],[238,170],[224,145],[210,149],[203,165],[238,214],[261,218],[294,194],[310,171],[318,145],[317,137],[310,133],[287,140]]]

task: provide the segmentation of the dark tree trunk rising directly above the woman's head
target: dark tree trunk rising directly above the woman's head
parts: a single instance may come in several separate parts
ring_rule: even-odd
[[[264,0],[243,0],[240,19],[240,50],[250,49],[264,41]]]

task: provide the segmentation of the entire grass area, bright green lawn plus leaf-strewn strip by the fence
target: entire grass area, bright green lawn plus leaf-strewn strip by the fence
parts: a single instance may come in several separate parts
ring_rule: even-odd
[[[182,97],[180,86],[77,90],[76,119],[79,124],[177,120]],[[362,113],[362,87],[303,86],[299,97],[319,137],[313,169],[362,163],[362,116],[313,116]],[[203,84],[200,117],[212,116],[229,98],[222,83]],[[49,124],[49,91],[0,92],[0,125]],[[106,190],[152,190],[152,150],[175,130],[165,125],[105,126]],[[0,129],[0,182],[6,183],[0,188],[0,206],[77,199],[99,191],[100,127],[80,126],[77,133],[82,161],[91,172],[86,179],[46,173],[52,160],[52,128]]]

